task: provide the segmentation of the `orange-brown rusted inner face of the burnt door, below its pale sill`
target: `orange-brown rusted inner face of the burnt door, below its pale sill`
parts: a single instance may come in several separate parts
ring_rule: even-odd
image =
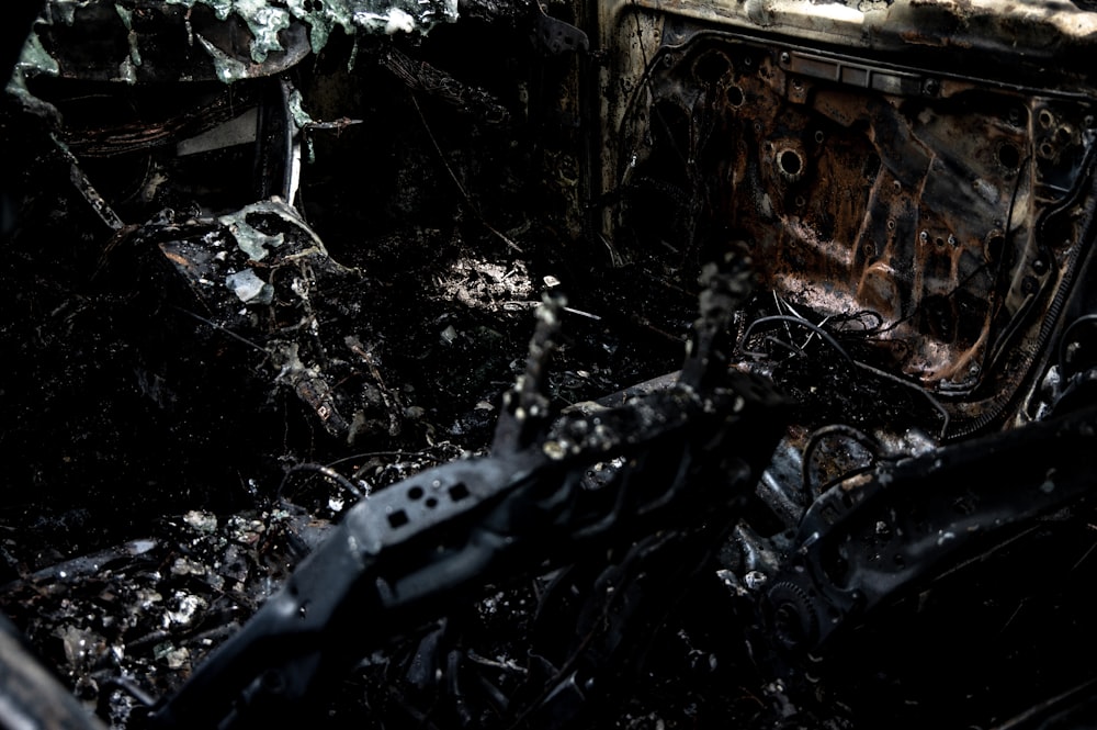
[[[875,313],[889,368],[955,393],[1060,272],[1037,222],[1076,184],[1081,103],[712,37],[649,68],[618,178],[635,244],[742,238],[769,288]]]

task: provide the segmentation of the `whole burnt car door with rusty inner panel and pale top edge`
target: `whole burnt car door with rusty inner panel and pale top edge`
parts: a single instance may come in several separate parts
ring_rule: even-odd
[[[902,8],[912,18],[955,10]],[[601,225],[621,259],[660,246],[703,259],[748,242],[767,288],[818,317],[871,315],[864,357],[975,423],[1027,374],[1070,279],[1088,222],[1070,211],[1097,135],[1094,94],[1082,83],[1007,83],[1005,57],[997,78],[976,78],[932,58],[892,64],[757,35],[837,34],[855,50],[900,59],[917,40],[870,33],[880,12],[604,7],[603,79],[613,82],[601,89]],[[1092,43],[1085,29],[1097,16],[1075,9],[1067,29],[1029,7],[972,12],[1002,27],[1039,15],[1038,29],[1011,37],[1058,33],[1056,47],[1075,49]],[[959,34],[952,45],[963,45]],[[985,60],[1002,38],[964,47]],[[1025,47],[1016,68],[1047,50]]]

